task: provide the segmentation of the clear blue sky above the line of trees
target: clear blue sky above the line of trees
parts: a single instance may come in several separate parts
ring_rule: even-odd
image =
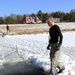
[[[0,16],[8,16],[10,14],[31,14],[42,12],[70,12],[75,9],[75,0],[1,0]]]

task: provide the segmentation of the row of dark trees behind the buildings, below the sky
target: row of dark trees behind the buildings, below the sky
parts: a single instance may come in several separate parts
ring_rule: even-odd
[[[75,9],[72,9],[69,13],[64,13],[61,11],[43,13],[41,10],[39,10],[37,14],[10,14],[10,16],[0,17],[0,24],[24,24],[26,23],[26,16],[37,16],[43,23],[45,23],[50,16],[53,16],[54,18],[60,18],[61,22],[75,22]]]

